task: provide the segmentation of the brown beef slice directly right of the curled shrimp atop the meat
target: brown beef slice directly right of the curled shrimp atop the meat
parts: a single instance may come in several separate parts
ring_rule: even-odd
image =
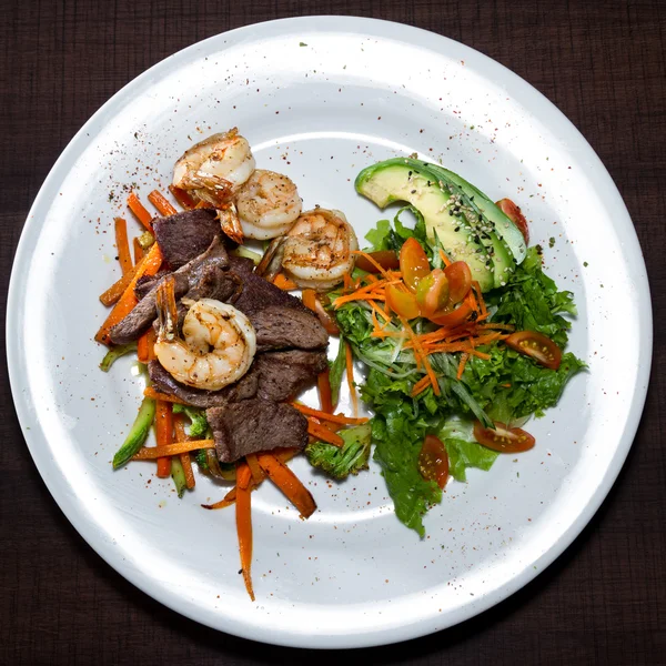
[[[289,347],[316,350],[329,344],[329,334],[309,310],[270,305],[252,314],[250,321],[260,352]]]

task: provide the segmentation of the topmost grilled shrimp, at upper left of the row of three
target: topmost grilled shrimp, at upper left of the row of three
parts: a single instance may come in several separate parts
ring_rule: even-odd
[[[219,206],[252,175],[254,157],[236,128],[200,141],[178,160],[173,185]]]

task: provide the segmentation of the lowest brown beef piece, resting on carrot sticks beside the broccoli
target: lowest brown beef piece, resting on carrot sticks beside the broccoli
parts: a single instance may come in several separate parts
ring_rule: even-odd
[[[232,463],[260,451],[303,448],[307,443],[307,420],[284,403],[246,400],[224,407],[211,407],[205,415],[222,463]]]

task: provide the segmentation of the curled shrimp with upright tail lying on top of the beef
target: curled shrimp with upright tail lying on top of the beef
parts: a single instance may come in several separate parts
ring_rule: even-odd
[[[229,303],[213,299],[182,303],[190,307],[178,336],[173,279],[158,286],[160,330],[154,354],[174,380],[218,391],[242,377],[254,359],[256,335],[248,317]]]

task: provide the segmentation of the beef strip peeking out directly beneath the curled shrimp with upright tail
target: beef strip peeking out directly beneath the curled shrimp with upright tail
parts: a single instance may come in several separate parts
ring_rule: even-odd
[[[160,364],[159,361],[150,361],[148,374],[158,391],[174,395],[190,405],[200,408],[223,406],[230,402],[248,400],[256,395],[259,386],[259,372],[254,365],[238,382],[224,386],[220,391],[202,391],[192,389],[176,382]]]

